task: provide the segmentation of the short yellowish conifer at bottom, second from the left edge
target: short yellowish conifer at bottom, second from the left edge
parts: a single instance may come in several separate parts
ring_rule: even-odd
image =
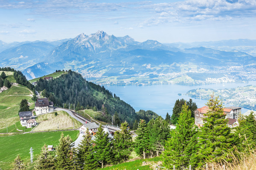
[[[54,170],[54,158],[49,153],[47,145],[44,144],[41,153],[35,161],[35,170]]]

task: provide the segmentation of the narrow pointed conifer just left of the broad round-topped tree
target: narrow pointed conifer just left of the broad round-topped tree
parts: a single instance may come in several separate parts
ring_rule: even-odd
[[[135,152],[138,156],[146,158],[146,155],[150,152],[149,148],[149,134],[145,120],[140,119],[139,128],[136,130],[138,136],[135,138]]]

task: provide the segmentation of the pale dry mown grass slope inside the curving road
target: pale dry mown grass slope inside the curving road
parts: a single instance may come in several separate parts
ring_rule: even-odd
[[[36,118],[37,122],[40,124],[35,128],[34,131],[44,131],[44,130],[63,130],[63,129],[73,129],[73,122],[75,123],[75,128],[79,128],[82,124],[71,117],[67,112],[58,111],[58,115],[55,116],[56,112],[38,116]]]

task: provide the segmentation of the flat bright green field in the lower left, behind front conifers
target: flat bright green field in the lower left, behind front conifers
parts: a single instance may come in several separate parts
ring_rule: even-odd
[[[29,149],[32,147],[34,150],[34,161],[41,151],[44,144],[53,144],[56,147],[58,140],[61,136],[69,135],[75,141],[79,136],[79,130],[58,131],[58,132],[41,132],[41,133],[26,133],[14,136],[0,137],[0,168],[2,170],[9,169],[11,162],[20,154],[21,159],[26,163],[30,161]],[[2,163],[10,162],[10,163]]]

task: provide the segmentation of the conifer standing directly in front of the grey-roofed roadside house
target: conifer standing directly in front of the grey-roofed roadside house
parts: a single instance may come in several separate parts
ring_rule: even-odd
[[[84,139],[76,148],[77,169],[93,170],[98,167],[98,162],[93,158],[93,141],[89,130],[85,132]]]

